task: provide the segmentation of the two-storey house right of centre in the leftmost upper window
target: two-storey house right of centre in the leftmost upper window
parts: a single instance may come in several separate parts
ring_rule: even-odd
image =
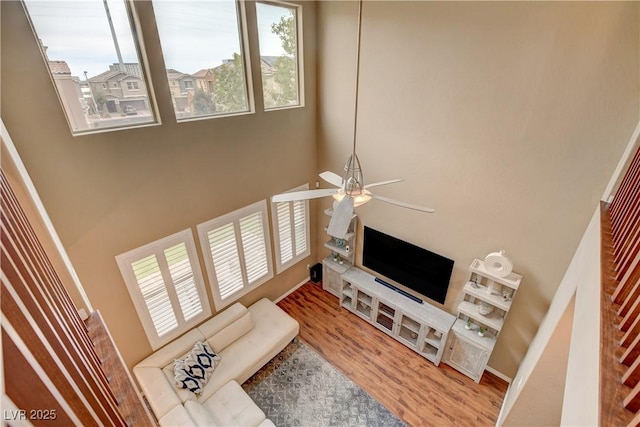
[[[149,110],[149,99],[144,80],[123,71],[105,71],[89,79],[91,92],[98,109],[109,113],[122,113],[126,107],[138,111]],[[104,106],[101,99],[104,97]]]

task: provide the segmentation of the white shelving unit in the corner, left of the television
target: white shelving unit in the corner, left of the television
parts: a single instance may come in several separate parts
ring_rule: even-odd
[[[331,217],[333,209],[327,209],[324,213]],[[324,247],[329,249],[331,254],[322,260],[322,289],[336,297],[340,297],[340,287],[342,286],[340,276],[353,265],[355,258],[357,221],[357,216],[354,214],[351,217],[347,234],[341,239],[327,234],[329,239],[324,244]]]

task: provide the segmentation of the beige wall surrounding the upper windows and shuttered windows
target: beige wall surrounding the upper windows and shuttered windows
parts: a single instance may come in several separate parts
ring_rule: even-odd
[[[264,113],[258,99],[255,114],[181,124],[173,118],[151,2],[136,7],[163,124],[72,137],[21,4],[1,3],[2,119],[129,365],[151,347],[114,257],[187,228],[195,234],[197,224],[309,182],[317,169],[315,3],[303,6],[305,108]],[[257,56],[252,69],[259,76]],[[260,96],[259,87],[254,92]],[[313,258],[242,302],[280,296],[308,275]]]

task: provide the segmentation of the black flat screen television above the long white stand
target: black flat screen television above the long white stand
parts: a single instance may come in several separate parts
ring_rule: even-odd
[[[453,271],[452,259],[367,226],[362,245],[365,267],[444,304]]]

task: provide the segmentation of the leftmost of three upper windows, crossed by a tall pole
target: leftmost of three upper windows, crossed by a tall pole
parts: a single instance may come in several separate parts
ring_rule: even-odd
[[[24,0],[74,135],[158,123],[142,43],[129,1]],[[135,96],[120,82],[135,77]],[[121,100],[136,108],[127,115]]]

